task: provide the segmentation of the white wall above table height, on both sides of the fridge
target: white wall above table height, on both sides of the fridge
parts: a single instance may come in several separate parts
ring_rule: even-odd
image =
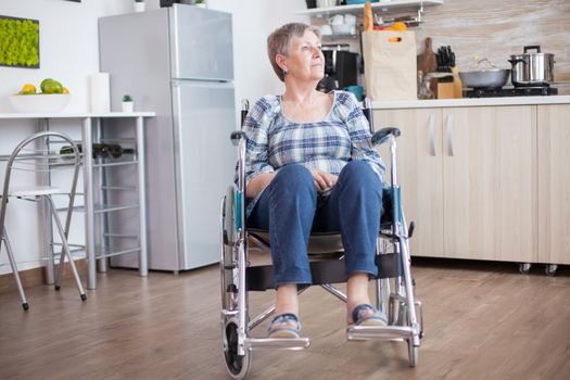
[[[147,0],[147,9],[160,8],[159,0]],[[251,100],[282,87],[273,74],[265,51],[265,39],[277,26],[305,8],[303,0],[210,0],[211,9],[233,15],[233,50],[237,99]],[[72,93],[66,111],[89,111],[88,77],[99,69],[97,20],[132,11],[132,0],[0,0],[0,14],[35,18],[40,22],[40,68],[0,66],[0,112],[12,112],[8,97],[24,84],[39,88],[42,79],[60,80]]]

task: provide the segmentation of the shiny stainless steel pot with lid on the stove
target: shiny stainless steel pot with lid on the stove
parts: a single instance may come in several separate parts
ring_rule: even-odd
[[[529,50],[536,50],[529,53]],[[517,87],[548,86],[554,81],[554,54],[542,53],[540,46],[523,48],[523,54],[510,55],[512,65],[510,81]]]

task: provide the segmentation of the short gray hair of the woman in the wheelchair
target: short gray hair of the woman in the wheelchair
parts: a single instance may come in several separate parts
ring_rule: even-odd
[[[306,30],[313,31],[320,39],[320,30],[318,28],[303,23],[286,24],[267,37],[267,55],[269,55],[269,62],[274,67],[275,74],[281,81],[284,81],[284,72],[279,67],[275,58],[277,54],[289,55],[289,47],[293,37],[303,37]]]

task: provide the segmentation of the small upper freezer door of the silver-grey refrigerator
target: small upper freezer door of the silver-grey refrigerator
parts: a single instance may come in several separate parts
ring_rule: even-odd
[[[233,79],[230,13],[174,4],[168,16],[173,78]]]

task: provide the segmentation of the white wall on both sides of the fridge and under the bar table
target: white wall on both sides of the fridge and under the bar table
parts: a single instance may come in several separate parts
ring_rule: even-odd
[[[147,9],[157,9],[159,0],[147,0]],[[293,11],[304,9],[303,0],[208,0],[211,9],[232,13],[236,99],[256,100],[266,93],[280,93],[282,85],[273,73],[267,59],[265,40],[276,27],[291,21],[305,21]],[[89,111],[88,77],[99,71],[97,20],[101,16],[132,11],[132,0],[81,0],[80,3],[63,0],[0,0],[0,14],[35,18],[40,22],[40,68],[13,68],[0,66],[0,113],[13,112],[8,97],[17,92],[26,83],[37,87],[43,78],[60,80],[72,93],[66,112]],[[237,110],[237,117],[238,117]],[[78,137],[74,125],[61,126],[65,132]],[[34,132],[33,122],[0,121],[0,154],[13,149],[15,143]],[[0,165],[0,183],[3,181]],[[26,263],[21,269],[40,265],[38,257],[39,221],[31,204],[14,202],[8,210],[8,228],[18,259]],[[81,214],[75,216],[78,226],[75,239],[81,239]],[[80,241],[76,241],[80,242]],[[0,264],[8,263],[4,249]],[[0,275],[10,267],[0,267]]]

